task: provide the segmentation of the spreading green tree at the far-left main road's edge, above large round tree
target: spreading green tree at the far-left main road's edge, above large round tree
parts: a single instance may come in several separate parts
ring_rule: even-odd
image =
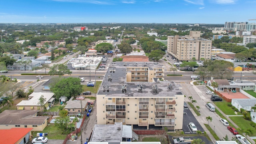
[[[68,66],[64,64],[54,64],[50,68],[50,71],[48,72],[48,74],[50,74],[50,76],[53,76],[53,75],[63,76],[64,74],[71,75],[72,72],[68,69]]]

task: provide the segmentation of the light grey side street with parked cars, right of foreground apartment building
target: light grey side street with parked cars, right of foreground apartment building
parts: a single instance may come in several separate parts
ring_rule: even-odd
[[[211,112],[206,108],[205,104],[207,102],[211,102],[210,95],[206,94],[207,88],[205,86],[192,86],[191,84],[181,84],[182,92],[186,95],[185,101],[189,102],[189,96],[193,97],[193,100],[196,100],[194,106],[200,106],[200,114],[201,116],[195,116],[198,122],[203,124],[208,124],[206,117],[212,117],[212,122],[209,121],[209,126],[216,132],[220,139],[228,135],[228,138],[231,139],[234,135],[227,130],[227,127],[221,124],[220,116],[218,116],[215,112]]]

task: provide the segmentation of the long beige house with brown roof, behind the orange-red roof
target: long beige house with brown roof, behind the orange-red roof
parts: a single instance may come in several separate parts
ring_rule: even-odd
[[[38,110],[5,110],[0,113],[0,129],[32,128],[32,131],[42,131],[47,126],[48,116],[37,116],[37,112]]]

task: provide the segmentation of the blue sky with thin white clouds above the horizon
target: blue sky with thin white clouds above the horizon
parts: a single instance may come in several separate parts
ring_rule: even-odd
[[[224,24],[256,20],[256,0],[3,0],[0,23]]]

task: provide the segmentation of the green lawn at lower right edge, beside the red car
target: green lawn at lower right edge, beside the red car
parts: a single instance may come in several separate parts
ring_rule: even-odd
[[[245,130],[250,128],[253,130],[252,134],[249,134],[249,136],[256,136],[256,130],[254,127],[250,125],[250,120],[245,120],[243,116],[230,116],[229,117],[234,123],[236,123],[239,128],[244,128]]]

